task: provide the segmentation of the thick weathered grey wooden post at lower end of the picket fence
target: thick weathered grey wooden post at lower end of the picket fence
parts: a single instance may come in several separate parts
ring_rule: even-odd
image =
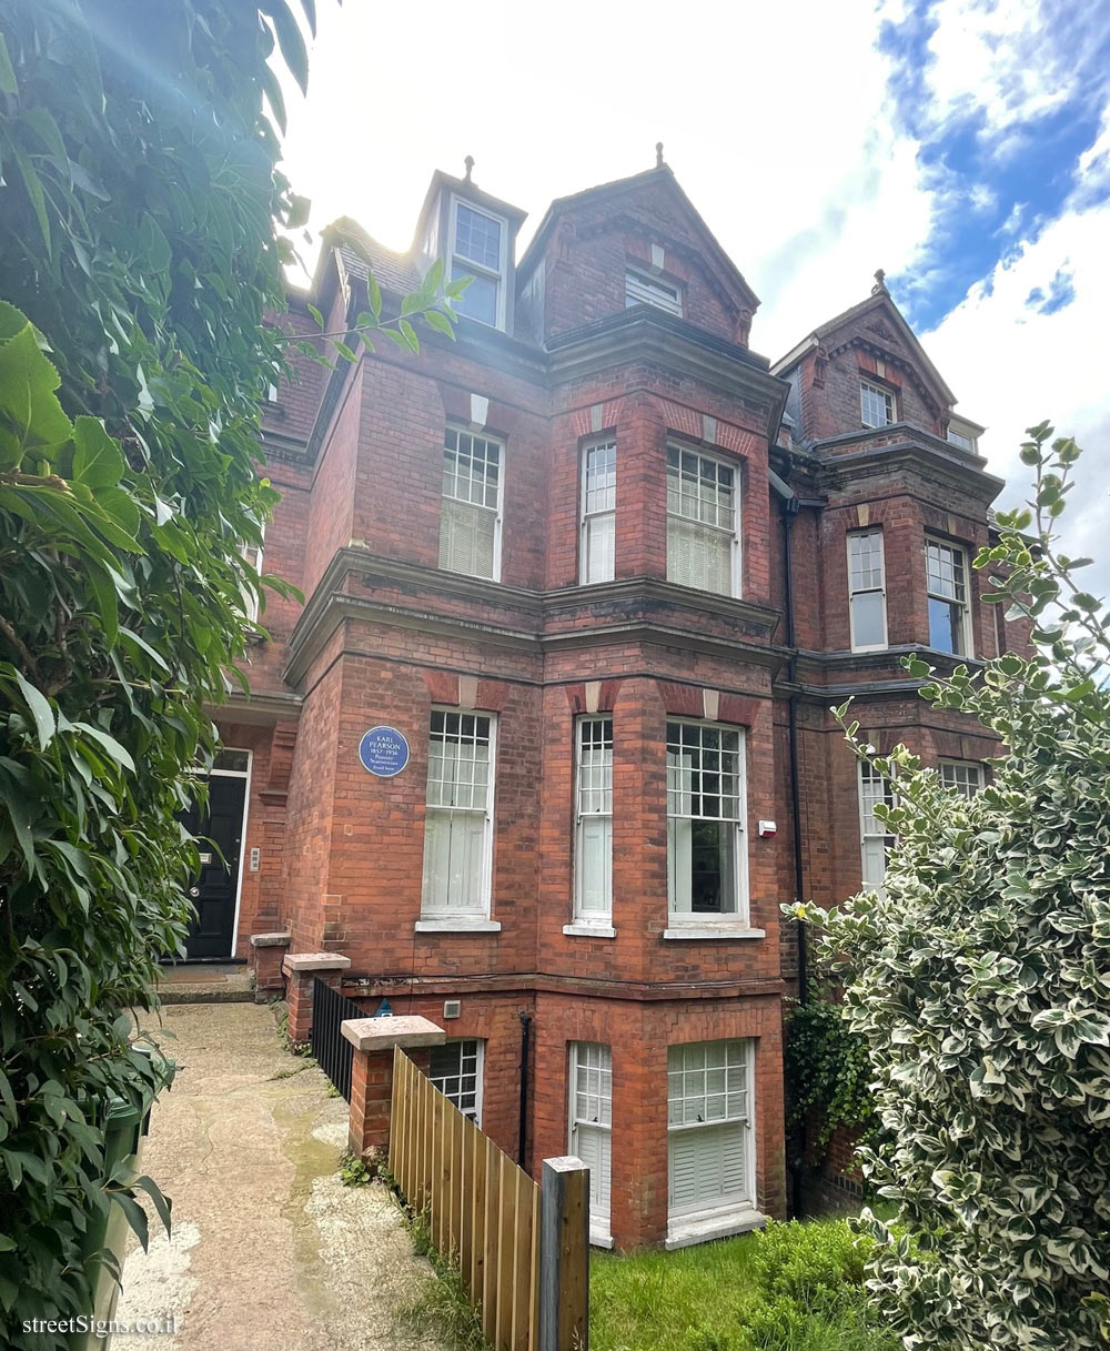
[[[543,1161],[539,1285],[539,1351],[587,1351],[590,1170],[573,1154]]]

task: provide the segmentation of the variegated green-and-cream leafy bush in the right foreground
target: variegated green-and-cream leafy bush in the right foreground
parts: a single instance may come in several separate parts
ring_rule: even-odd
[[[1079,450],[1051,438],[1030,428],[1033,500],[976,558],[1033,655],[907,662],[1007,754],[967,800],[862,747],[897,780],[884,894],[801,909],[867,1040],[889,1139],[864,1170],[899,1221],[868,1221],[868,1286],[907,1351],[1110,1344],[1110,611],[1057,550]]]

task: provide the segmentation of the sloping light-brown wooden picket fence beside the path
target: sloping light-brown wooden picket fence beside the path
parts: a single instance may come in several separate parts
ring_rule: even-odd
[[[428,1212],[436,1250],[458,1262],[494,1351],[539,1351],[540,1189],[393,1051],[389,1167]]]

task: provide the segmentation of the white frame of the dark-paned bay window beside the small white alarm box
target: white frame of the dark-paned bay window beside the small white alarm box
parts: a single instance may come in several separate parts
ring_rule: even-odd
[[[687,815],[683,811],[677,811],[675,808],[683,807],[683,798],[690,797],[689,804],[690,812],[693,812],[694,797],[701,797],[701,792],[695,792],[693,774],[712,774],[712,770],[682,770],[682,766],[672,763],[674,753],[671,751],[671,736],[670,728],[678,727],[695,727],[702,732],[717,731],[736,736],[736,816],[702,816],[702,815]],[[745,931],[749,924],[749,904],[751,897],[748,893],[748,770],[747,770],[747,736],[743,727],[733,727],[726,723],[712,723],[704,719],[690,719],[690,717],[668,717],[666,723],[666,755],[667,755],[667,917],[672,928],[668,932],[678,932],[679,929],[705,929],[712,932],[714,928],[726,928],[731,931]],[[702,754],[706,748],[699,747]],[[712,748],[709,748],[712,754]],[[721,751],[718,750],[720,755]],[[677,777],[678,773],[689,773],[691,781],[686,785],[682,780]],[[702,780],[698,781],[698,788],[702,786]],[[708,794],[708,796],[725,796],[725,794]],[[695,913],[689,908],[679,908],[678,896],[678,867],[682,863],[683,842],[679,834],[678,821],[690,821],[691,834],[694,821],[720,821],[722,825],[732,825],[733,839],[733,873],[735,873],[735,892],[731,897],[732,909],[709,911],[705,913]],[[690,897],[690,904],[693,904],[693,897]],[[752,929],[754,935],[760,931]]]

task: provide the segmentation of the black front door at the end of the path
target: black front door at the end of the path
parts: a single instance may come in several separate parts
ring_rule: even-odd
[[[184,816],[185,828],[203,836],[197,840],[200,873],[189,886],[189,898],[197,909],[197,919],[185,940],[186,954],[192,958],[231,957],[246,793],[246,778],[213,774],[208,780],[207,813],[201,817],[193,808]],[[212,847],[213,843],[219,850]]]

